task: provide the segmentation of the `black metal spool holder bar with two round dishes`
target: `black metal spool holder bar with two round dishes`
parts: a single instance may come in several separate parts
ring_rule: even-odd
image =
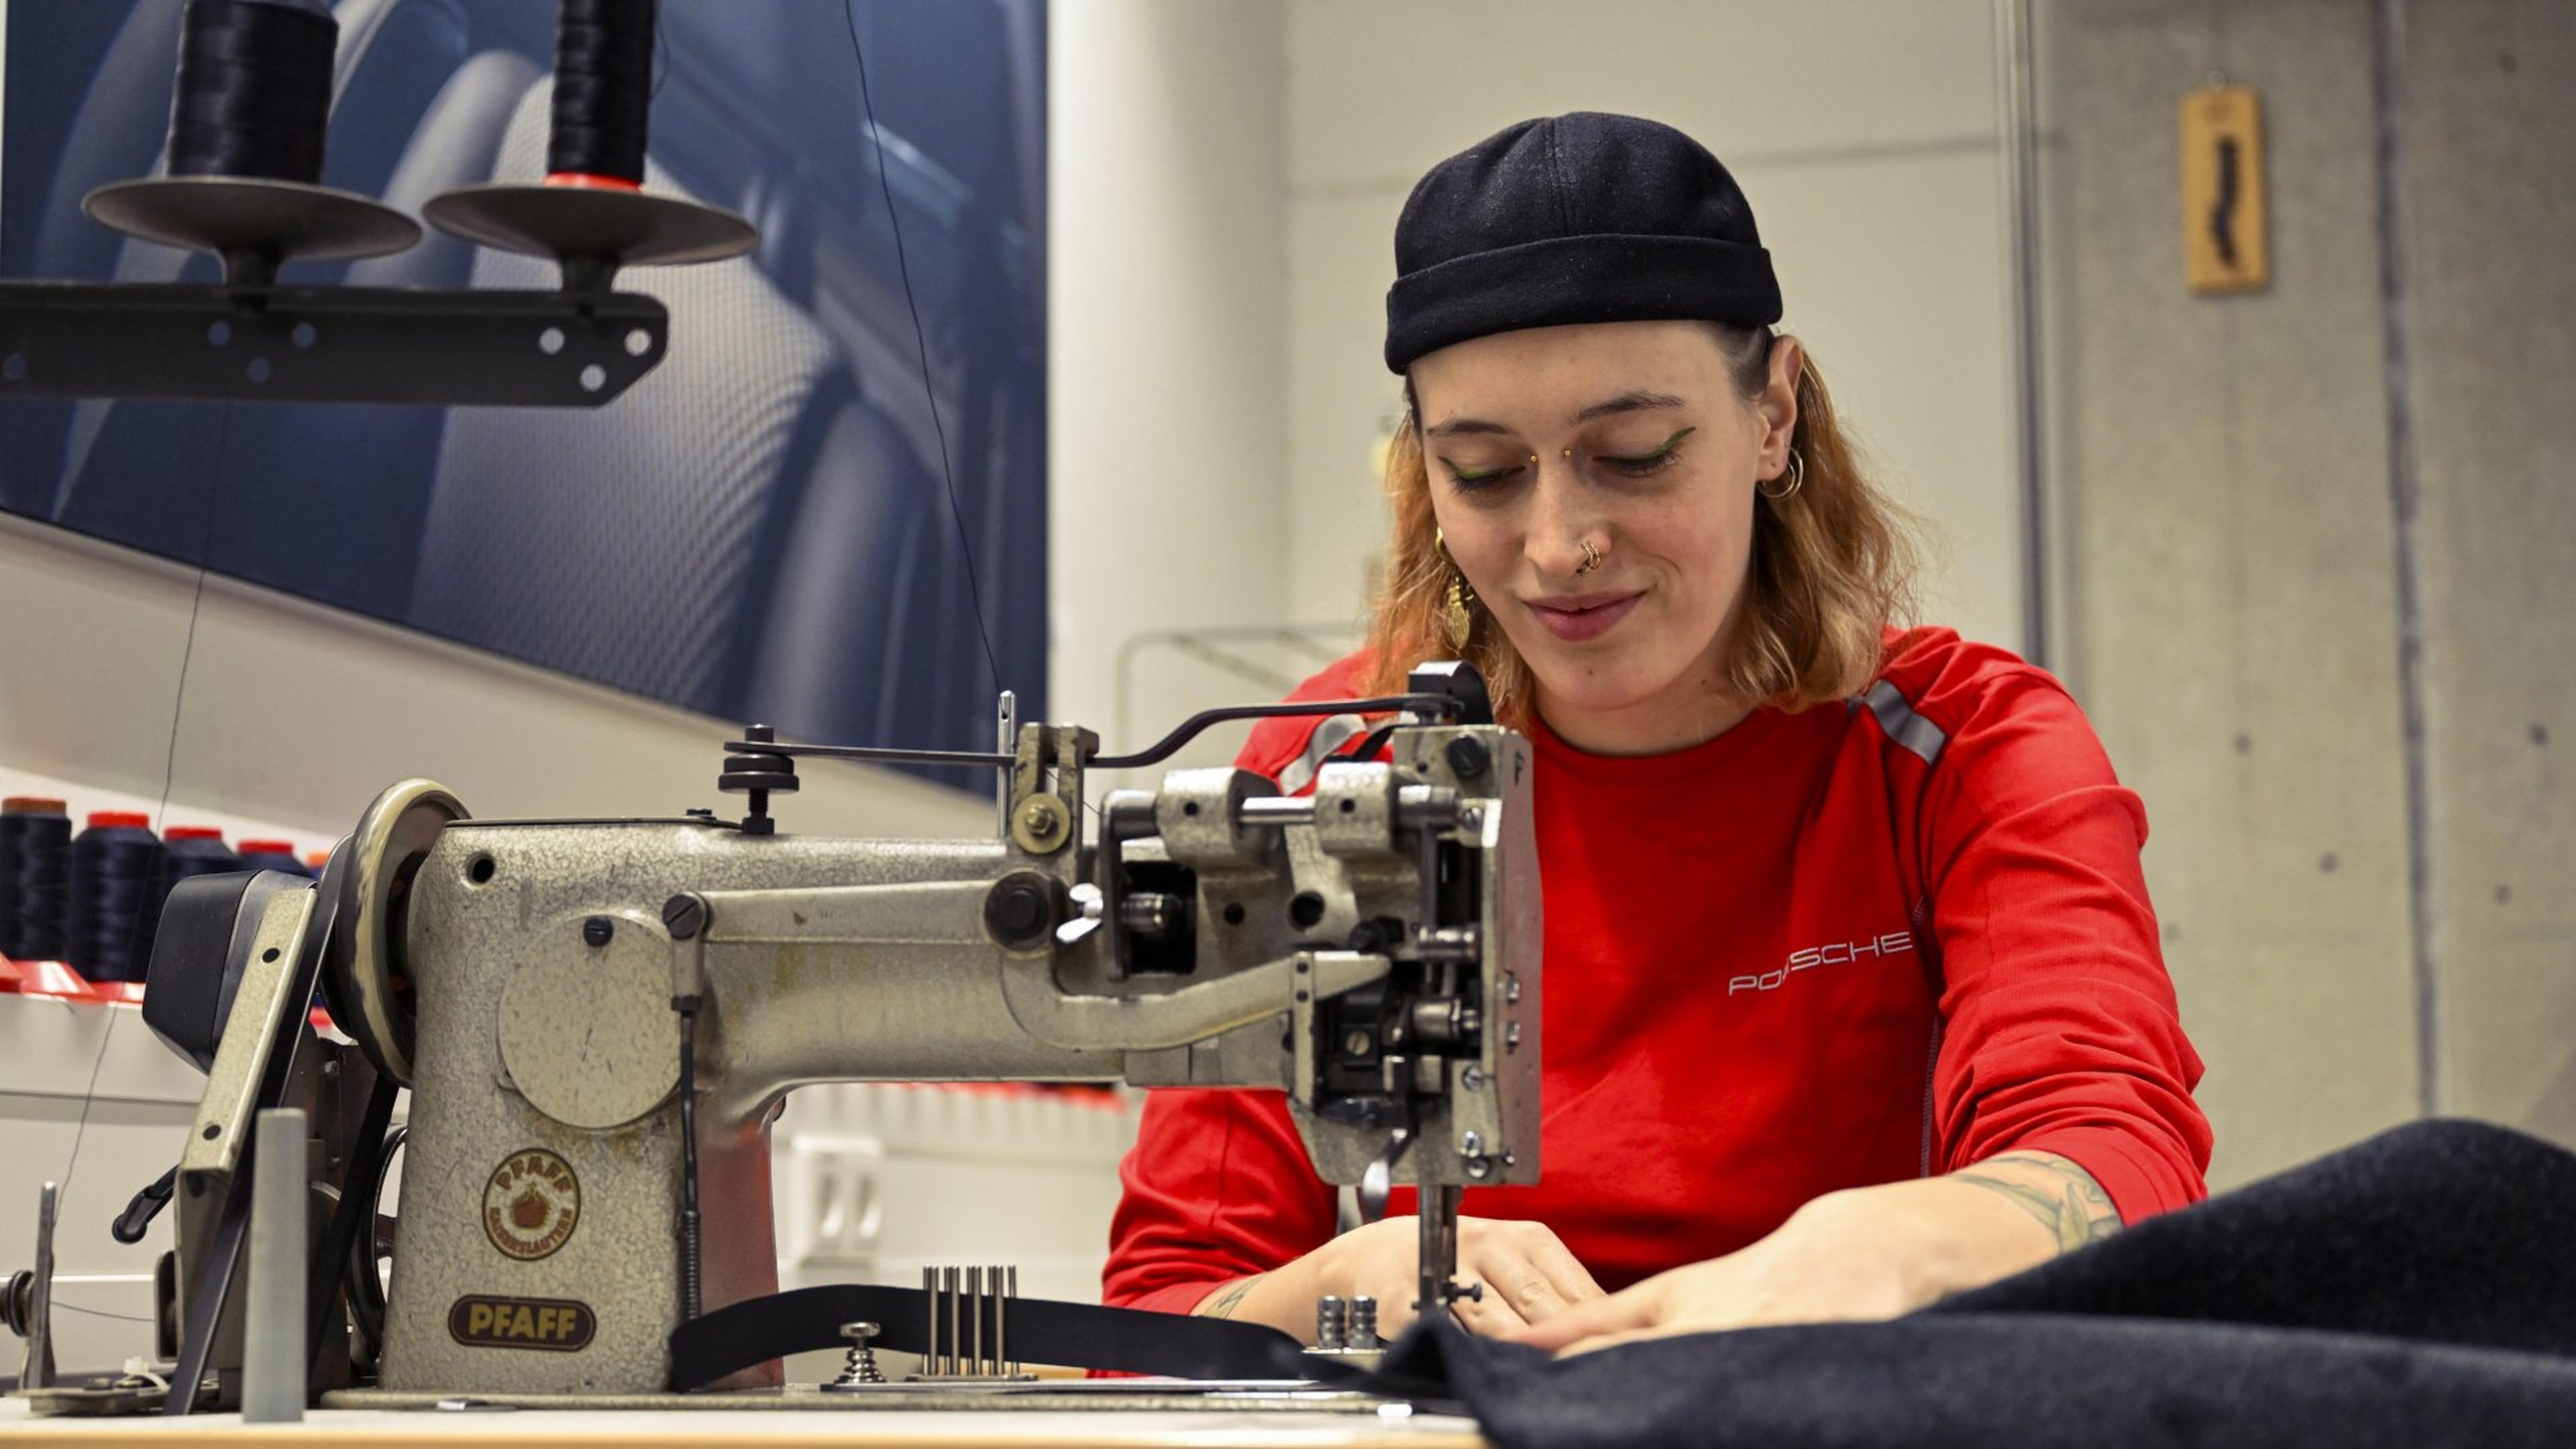
[[[147,178],[82,209],[126,235],[214,253],[224,281],[0,281],[0,400],[407,402],[600,407],[670,343],[623,266],[742,255],[742,217],[641,191],[477,186],[430,201],[443,229],[562,266],[559,291],[281,286],[289,260],[386,255],[420,224],[363,196],[247,178]]]

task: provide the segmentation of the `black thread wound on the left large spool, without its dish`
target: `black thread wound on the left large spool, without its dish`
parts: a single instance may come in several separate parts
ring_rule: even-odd
[[[191,0],[170,98],[170,175],[322,180],[340,23],[258,0]]]

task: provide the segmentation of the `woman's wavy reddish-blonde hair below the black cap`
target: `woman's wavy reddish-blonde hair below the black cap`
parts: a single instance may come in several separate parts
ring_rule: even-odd
[[[1713,327],[1736,389],[1744,400],[1759,397],[1770,379],[1770,330]],[[1365,688],[1399,691],[1419,660],[1463,655],[1484,676],[1494,717],[1525,727],[1538,681],[1494,616],[1481,603],[1468,608],[1466,650],[1453,650],[1440,632],[1453,570],[1435,541],[1422,420],[1409,382],[1404,400],[1404,423],[1386,449],[1394,529],[1368,629]],[[1914,606],[1917,521],[1870,485],[1814,361],[1798,371],[1790,454],[1793,477],[1801,477],[1795,492],[1754,500],[1744,611],[1723,678],[1736,699],[1798,712],[1860,694],[1883,668],[1886,627],[1904,621]]]

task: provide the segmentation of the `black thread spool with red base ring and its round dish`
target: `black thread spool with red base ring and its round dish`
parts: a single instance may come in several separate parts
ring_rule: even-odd
[[[564,291],[626,266],[724,260],[760,232],[742,217],[644,191],[657,0],[562,0],[544,186],[464,186],[420,209],[440,232],[554,258]]]

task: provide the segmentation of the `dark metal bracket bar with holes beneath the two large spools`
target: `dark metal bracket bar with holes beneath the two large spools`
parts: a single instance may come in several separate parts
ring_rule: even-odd
[[[636,291],[0,284],[0,400],[600,407],[667,343]]]

